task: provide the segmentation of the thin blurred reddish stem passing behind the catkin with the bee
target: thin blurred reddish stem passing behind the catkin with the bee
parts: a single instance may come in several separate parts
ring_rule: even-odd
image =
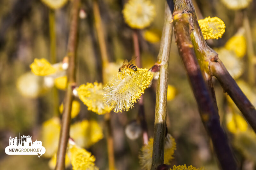
[[[139,45],[139,30],[133,30],[132,34],[133,38],[133,46],[134,46],[134,54],[135,54],[135,63],[137,67],[141,67],[140,63],[140,45]],[[142,137],[143,137],[143,144],[148,144],[148,127],[145,118],[145,111],[144,111],[144,104],[143,104],[143,95],[140,96],[139,99],[139,113],[138,118],[140,120],[140,125],[142,128]]]

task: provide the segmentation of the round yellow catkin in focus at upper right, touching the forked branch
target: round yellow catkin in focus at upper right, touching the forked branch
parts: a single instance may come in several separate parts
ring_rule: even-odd
[[[219,39],[225,32],[225,24],[218,17],[207,17],[198,20],[204,39]]]

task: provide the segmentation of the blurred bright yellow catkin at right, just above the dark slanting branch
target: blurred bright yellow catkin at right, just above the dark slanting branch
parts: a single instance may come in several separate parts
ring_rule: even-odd
[[[237,57],[244,57],[246,53],[246,40],[243,35],[235,35],[228,39],[225,48],[234,51]]]

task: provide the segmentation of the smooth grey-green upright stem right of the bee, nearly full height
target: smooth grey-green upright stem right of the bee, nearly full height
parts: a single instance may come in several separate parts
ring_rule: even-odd
[[[172,21],[172,11],[170,10],[167,2],[165,2],[164,27],[160,49],[157,56],[158,63],[161,64],[161,67],[159,70],[159,79],[157,81],[156,89],[156,115],[151,170],[156,169],[158,165],[164,163],[168,67],[173,30],[173,26],[170,24]]]

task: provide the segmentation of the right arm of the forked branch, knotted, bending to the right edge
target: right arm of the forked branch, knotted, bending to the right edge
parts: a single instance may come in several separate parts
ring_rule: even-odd
[[[188,6],[187,6],[188,7]],[[210,48],[203,37],[201,29],[198,25],[196,15],[189,5],[189,11],[192,11],[192,21],[190,25],[193,27],[193,31],[190,34],[192,43],[195,49],[196,57],[204,74],[215,76],[222,88],[228,92],[229,96],[232,96],[232,100],[236,103],[236,106],[244,115],[245,119],[251,125],[252,129],[256,132],[256,110],[242,90],[236,84],[236,81],[228,73],[225,66],[218,58],[218,54]],[[183,9],[185,10],[185,9]],[[232,89],[232,90],[231,90]]]

